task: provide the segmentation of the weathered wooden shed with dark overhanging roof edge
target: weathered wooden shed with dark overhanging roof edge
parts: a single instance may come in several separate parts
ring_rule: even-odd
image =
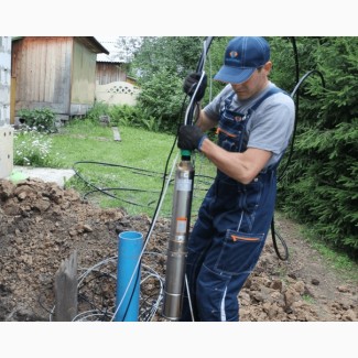
[[[51,108],[59,120],[85,116],[95,104],[97,54],[94,36],[12,37],[11,104]],[[15,118],[11,118],[15,122]]]

